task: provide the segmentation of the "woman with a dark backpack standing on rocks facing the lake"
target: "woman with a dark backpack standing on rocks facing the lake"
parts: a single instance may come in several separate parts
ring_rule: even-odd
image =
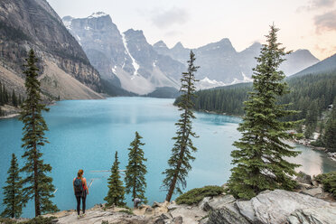
[[[73,179],[73,191],[75,193],[76,196],[76,200],[77,200],[77,214],[78,214],[78,218],[80,218],[79,216],[79,212],[80,212],[80,199],[82,201],[83,204],[83,214],[82,216],[85,216],[85,200],[87,198],[87,194],[89,194],[89,188],[87,185],[87,180],[83,177],[83,170],[79,170],[79,173],[77,173],[77,177],[75,177]]]

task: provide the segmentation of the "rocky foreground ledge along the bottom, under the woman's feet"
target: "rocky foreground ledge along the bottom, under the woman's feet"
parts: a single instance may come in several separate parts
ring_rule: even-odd
[[[174,201],[154,202],[139,209],[96,205],[86,216],[77,218],[75,210],[45,215],[56,217],[52,223],[120,224],[331,224],[336,223],[336,201],[322,190],[311,176],[301,173],[296,191],[262,191],[249,201],[229,194],[205,197],[198,204],[178,205]],[[225,184],[223,185],[225,188]]]

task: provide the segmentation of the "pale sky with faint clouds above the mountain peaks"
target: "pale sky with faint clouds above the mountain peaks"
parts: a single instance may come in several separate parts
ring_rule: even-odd
[[[198,48],[229,38],[237,51],[280,29],[286,50],[308,49],[323,60],[336,53],[336,0],[47,0],[61,17],[109,14],[120,32],[143,30],[147,42]]]

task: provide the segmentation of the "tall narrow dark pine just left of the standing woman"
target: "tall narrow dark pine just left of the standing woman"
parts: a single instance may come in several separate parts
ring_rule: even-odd
[[[55,191],[52,178],[46,175],[51,172],[51,165],[43,163],[42,160],[41,147],[49,143],[44,136],[48,126],[42,117],[42,111],[49,111],[49,108],[41,103],[41,84],[37,79],[36,62],[34,51],[29,51],[25,64],[26,70],[23,72],[26,75],[24,85],[27,98],[23,102],[20,120],[23,121],[22,147],[23,158],[25,158],[21,171],[27,173],[23,179],[25,185],[23,193],[26,201],[34,200],[37,217],[44,212],[54,212],[58,209],[51,201],[52,192]]]

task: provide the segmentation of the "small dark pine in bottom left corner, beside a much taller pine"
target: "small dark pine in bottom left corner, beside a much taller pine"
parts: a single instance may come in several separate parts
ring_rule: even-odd
[[[15,154],[12,154],[11,167],[7,173],[7,185],[3,187],[5,195],[3,204],[6,208],[1,213],[1,216],[8,218],[20,218],[23,213],[23,186]]]

